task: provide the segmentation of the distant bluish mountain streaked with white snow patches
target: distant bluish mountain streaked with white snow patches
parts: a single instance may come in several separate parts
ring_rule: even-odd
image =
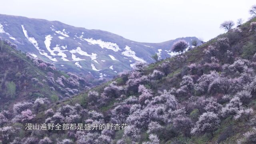
[[[152,63],[153,54],[160,59],[174,53],[170,48],[177,38],[161,43],[135,42],[102,30],[88,30],[58,21],[0,14],[0,36],[18,45],[18,50],[52,62],[59,70],[113,77],[130,70],[136,61]]]

